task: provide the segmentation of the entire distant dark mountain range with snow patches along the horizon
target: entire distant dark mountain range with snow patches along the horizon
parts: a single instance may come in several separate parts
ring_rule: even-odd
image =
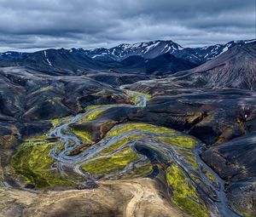
[[[231,41],[203,48],[183,48],[172,41],[120,44],[111,49],[46,49],[34,53],[0,54],[0,66],[25,66],[54,75],[114,71],[162,76],[186,71],[212,60],[235,46],[255,40]]]

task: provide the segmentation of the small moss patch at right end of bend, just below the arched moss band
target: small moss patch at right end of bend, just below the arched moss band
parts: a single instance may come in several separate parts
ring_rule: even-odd
[[[196,144],[193,138],[184,135],[177,135],[173,137],[158,137],[158,139],[170,146],[178,146],[189,149],[194,148]]]

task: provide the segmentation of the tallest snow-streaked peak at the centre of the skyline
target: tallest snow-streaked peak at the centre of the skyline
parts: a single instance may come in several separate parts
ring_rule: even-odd
[[[150,41],[143,43],[122,43],[112,49],[90,49],[85,53],[96,60],[124,60],[132,55],[140,55],[145,59],[153,59],[161,54],[182,50],[183,47],[172,41]]]

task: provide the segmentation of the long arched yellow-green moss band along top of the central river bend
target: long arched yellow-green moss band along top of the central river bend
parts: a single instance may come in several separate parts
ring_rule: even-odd
[[[111,130],[107,135],[115,136],[118,134],[124,134],[129,131],[138,130],[143,132],[149,132],[154,134],[176,134],[177,132],[171,128],[163,128],[154,126],[148,123],[126,123],[124,125],[117,126],[114,130]]]

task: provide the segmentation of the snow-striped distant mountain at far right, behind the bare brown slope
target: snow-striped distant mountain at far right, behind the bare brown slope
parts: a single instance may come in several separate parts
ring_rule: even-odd
[[[236,45],[242,45],[246,43],[254,43],[256,39],[253,40],[241,40],[241,41],[231,41],[226,44],[216,44],[212,46],[207,46],[203,48],[194,49],[195,53],[204,60],[212,60],[217,57],[219,54],[223,54],[225,51],[233,48]]]

